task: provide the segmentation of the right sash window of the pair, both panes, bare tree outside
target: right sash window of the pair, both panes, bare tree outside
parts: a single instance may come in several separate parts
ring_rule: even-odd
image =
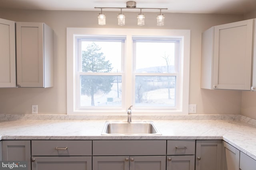
[[[140,109],[176,109],[180,41],[174,37],[134,37],[135,92]]]

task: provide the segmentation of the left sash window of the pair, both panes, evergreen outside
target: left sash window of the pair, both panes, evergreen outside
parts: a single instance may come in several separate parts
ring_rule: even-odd
[[[124,37],[76,36],[77,109],[122,106]]]

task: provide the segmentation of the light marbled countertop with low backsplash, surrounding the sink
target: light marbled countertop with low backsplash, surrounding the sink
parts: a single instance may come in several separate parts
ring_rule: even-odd
[[[44,118],[42,118],[44,117]],[[81,119],[46,115],[31,118],[30,115],[0,115],[1,140],[210,140],[223,139],[230,145],[256,159],[255,120],[241,115],[219,116],[169,116],[154,121],[162,135],[101,135],[106,120],[125,120],[127,117],[105,117],[104,120]],[[145,118],[145,117],[144,117]],[[150,118],[150,117],[147,117]],[[154,117],[151,117],[154,118]],[[171,119],[172,118],[172,119]],[[53,120],[54,119],[54,120]],[[135,117],[133,120],[140,120]],[[182,119],[182,120],[181,120]]]

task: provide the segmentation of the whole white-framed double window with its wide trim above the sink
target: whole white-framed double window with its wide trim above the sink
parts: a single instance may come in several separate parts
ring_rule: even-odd
[[[188,114],[189,30],[67,28],[68,114]]]

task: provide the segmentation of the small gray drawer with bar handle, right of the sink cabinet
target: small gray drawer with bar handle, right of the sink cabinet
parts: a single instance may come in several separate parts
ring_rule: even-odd
[[[195,140],[168,140],[168,155],[195,154]]]

